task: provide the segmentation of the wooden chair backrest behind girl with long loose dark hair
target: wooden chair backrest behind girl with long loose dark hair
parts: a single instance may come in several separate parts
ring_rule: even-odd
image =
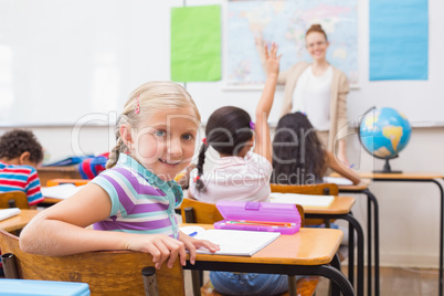
[[[338,195],[339,189],[335,183],[319,184],[269,184],[272,192],[299,193],[313,195]]]

